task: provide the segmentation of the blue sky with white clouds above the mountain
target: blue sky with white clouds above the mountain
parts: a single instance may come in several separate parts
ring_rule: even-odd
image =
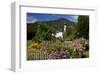
[[[73,22],[77,22],[77,15],[64,15],[64,14],[42,14],[42,13],[27,13],[27,23],[35,23],[38,21],[56,20],[65,18]]]

